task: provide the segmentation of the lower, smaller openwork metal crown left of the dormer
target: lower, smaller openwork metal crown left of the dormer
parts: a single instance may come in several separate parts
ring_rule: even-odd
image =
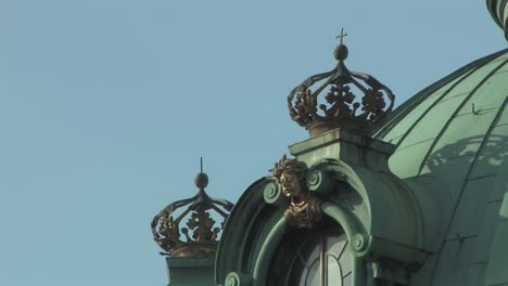
[[[205,173],[199,173],[194,182],[199,187],[195,196],[169,204],[152,220],[154,240],[165,251],[161,255],[207,257],[217,250],[218,235],[233,204],[206,194],[208,177]],[[217,224],[213,213],[223,221]],[[185,226],[180,226],[182,221]]]

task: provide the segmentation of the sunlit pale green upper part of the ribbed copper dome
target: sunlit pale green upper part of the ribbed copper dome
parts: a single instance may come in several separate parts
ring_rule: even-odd
[[[397,146],[392,171],[401,178],[432,172],[450,184],[495,174],[508,152],[499,143],[508,133],[507,61],[508,50],[480,58],[399,106],[376,134]]]

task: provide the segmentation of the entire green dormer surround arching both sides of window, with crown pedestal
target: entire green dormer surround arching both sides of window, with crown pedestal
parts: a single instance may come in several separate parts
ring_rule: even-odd
[[[418,198],[408,184],[390,172],[385,162],[393,152],[390,144],[334,130],[297,143],[290,151],[310,167],[308,190],[321,197],[322,213],[350,240],[354,285],[363,285],[367,272],[390,281],[381,276],[386,275],[380,270],[383,261],[398,261],[404,273],[426,261],[426,245],[433,243],[442,225],[435,217],[426,218],[421,209],[441,213],[435,202],[441,197]],[[416,186],[412,184],[418,190]],[[441,187],[432,180],[422,187],[429,186]],[[254,182],[243,193],[219,243],[217,284],[265,285],[270,261],[292,227],[283,218],[288,205],[270,177]]]

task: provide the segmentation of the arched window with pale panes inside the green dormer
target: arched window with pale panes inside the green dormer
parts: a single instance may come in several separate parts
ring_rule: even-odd
[[[294,230],[275,255],[268,285],[350,286],[352,253],[344,232],[335,225]]]

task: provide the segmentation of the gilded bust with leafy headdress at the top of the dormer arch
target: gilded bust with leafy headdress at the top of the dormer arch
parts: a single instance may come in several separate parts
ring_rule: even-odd
[[[284,155],[271,169],[282,194],[290,198],[290,206],[284,211],[288,224],[297,227],[310,227],[321,219],[320,199],[310,194],[306,186],[307,166]]]

